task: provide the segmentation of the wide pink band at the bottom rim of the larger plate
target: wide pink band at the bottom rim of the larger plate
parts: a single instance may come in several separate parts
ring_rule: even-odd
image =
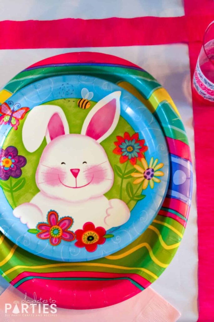
[[[87,283],[87,290],[86,290]],[[118,286],[116,287],[116,283]],[[119,303],[141,292],[129,280],[76,281],[76,280],[27,280],[17,289],[33,298],[56,301],[61,308],[91,309]],[[77,291],[78,290],[78,291]],[[90,296],[89,296],[90,294]]]

